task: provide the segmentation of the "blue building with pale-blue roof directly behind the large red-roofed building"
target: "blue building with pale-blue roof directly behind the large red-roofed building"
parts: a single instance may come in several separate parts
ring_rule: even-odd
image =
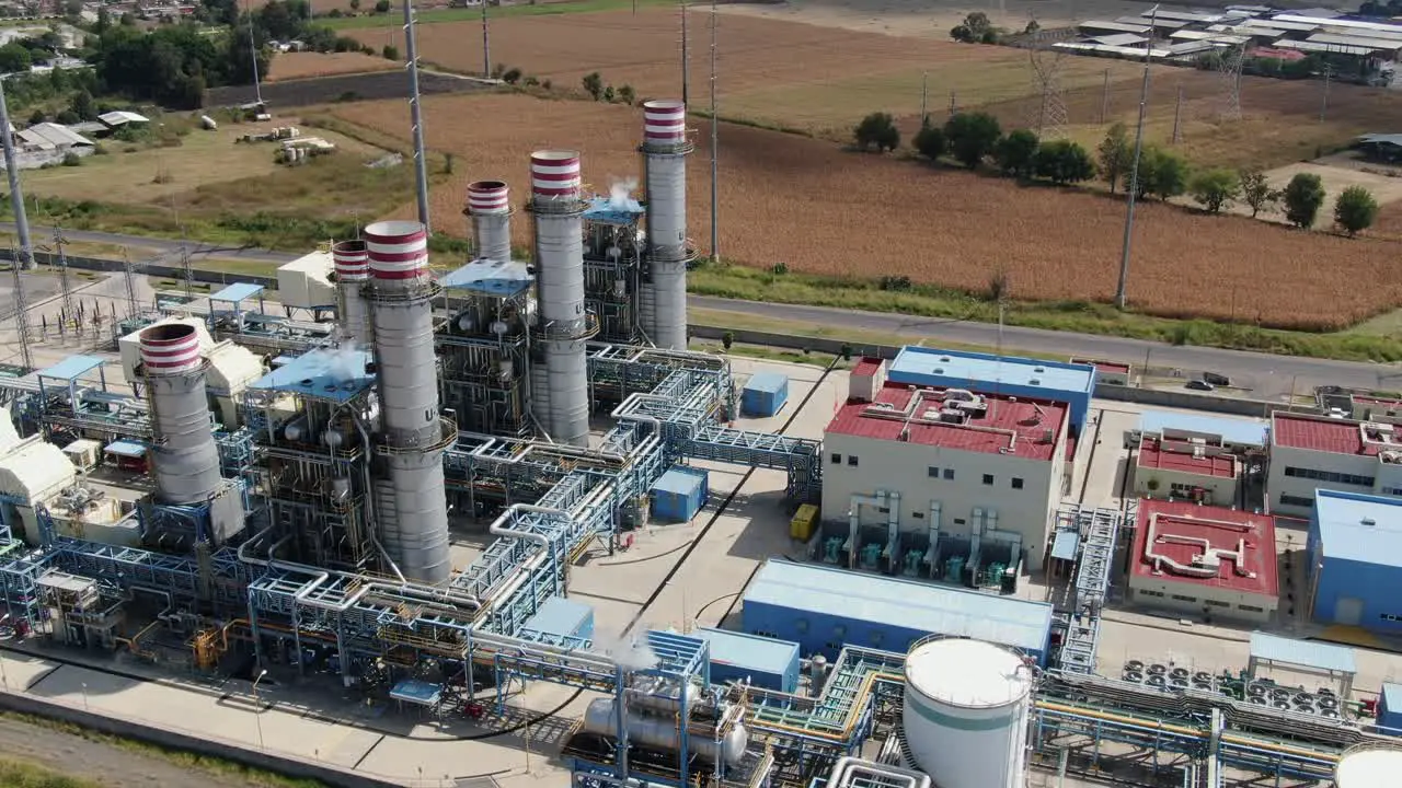
[[[967,388],[980,394],[1066,402],[1071,411],[1071,432],[1080,435],[1081,425],[1085,423],[1091,412],[1095,367],[1018,356],[906,346],[890,363],[886,380],[908,386]]]

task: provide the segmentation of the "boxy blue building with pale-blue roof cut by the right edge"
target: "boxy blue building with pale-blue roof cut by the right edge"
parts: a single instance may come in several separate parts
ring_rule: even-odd
[[[1402,499],[1318,489],[1305,550],[1314,621],[1402,634]]]

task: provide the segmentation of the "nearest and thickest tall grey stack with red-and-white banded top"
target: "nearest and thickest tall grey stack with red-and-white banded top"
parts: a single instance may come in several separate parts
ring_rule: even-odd
[[[365,229],[380,391],[379,451],[390,467],[380,495],[386,550],[409,579],[439,583],[449,562],[443,450],[457,429],[439,416],[428,230],[418,222]],[[386,494],[387,492],[387,494]]]

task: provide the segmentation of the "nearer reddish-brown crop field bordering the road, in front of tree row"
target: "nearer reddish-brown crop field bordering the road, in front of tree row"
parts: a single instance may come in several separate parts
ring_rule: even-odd
[[[430,97],[423,107],[429,147],[456,157],[453,182],[432,195],[435,226],[446,233],[464,233],[471,179],[506,179],[513,201],[523,201],[534,149],[582,150],[586,182],[606,193],[613,179],[638,174],[634,108],[506,94]],[[407,135],[401,102],[332,112]],[[707,137],[688,170],[698,241],[709,223]],[[1007,272],[1014,296],[1033,300],[1109,300],[1115,290],[1124,209],[1106,196],[1021,188],[733,125],[721,129],[719,161],[721,243],[732,259],[974,292]],[[517,216],[513,233],[524,244],[530,229]],[[1143,205],[1138,217],[1130,297],[1154,314],[1338,328],[1402,304],[1402,243],[1391,234],[1350,241],[1158,203]]]

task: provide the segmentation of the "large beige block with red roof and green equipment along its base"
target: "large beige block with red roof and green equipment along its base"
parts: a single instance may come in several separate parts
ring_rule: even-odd
[[[823,436],[823,517],[851,534],[838,561],[939,576],[965,551],[984,566],[1040,568],[1071,464],[1068,405],[882,384],[882,365],[865,359],[854,372]],[[879,566],[858,555],[873,544]],[[925,559],[906,555],[916,544]]]

